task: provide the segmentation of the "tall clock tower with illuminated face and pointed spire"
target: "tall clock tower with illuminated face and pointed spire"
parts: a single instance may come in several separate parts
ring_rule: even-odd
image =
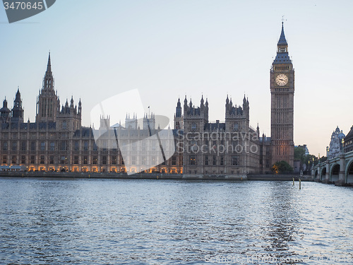
[[[272,165],[294,165],[294,69],[282,22],[277,56],[270,70]]]

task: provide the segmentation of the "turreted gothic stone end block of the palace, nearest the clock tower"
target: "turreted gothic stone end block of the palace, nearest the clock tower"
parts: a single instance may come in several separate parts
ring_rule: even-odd
[[[270,153],[265,136],[259,137],[249,125],[249,100],[243,105],[233,105],[227,97],[225,122],[208,120],[208,100],[201,98],[200,106],[184,100],[181,116],[180,100],[177,103],[174,124],[181,131],[184,175],[246,175],[264,172]],[[182,122],[181,118],[182,117]]]

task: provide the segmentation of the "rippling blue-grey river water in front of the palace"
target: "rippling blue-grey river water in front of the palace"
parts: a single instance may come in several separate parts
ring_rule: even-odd
[[[3,264],[353,264],[353,189],[0,178]]]

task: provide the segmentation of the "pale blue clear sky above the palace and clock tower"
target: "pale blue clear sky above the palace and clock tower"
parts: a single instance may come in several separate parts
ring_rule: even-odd
[[[8,24],[0,8],[0,99],[17,86],[35,120],[49,49],[56,89],[83,102],[83,124],[101,100],[138,88],[146,106],[172,119],[185,94],[208,98],[225,119],[227,93],[249,97],[251,125],[270,136],[270,66],[285,15],[296,70],[294,142],[325,154],[352,117],[353,1],[65,1]]]

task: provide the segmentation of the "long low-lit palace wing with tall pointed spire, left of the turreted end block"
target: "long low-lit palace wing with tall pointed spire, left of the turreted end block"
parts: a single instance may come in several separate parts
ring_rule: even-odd
[[[61,106],[54,90],[54,77],[50,54],[47,71],[43,79],[42,90],[37,98],[35,122],[23,122],[23,107],[20,91],[16,93],[12,110],[8,109],[7,101],[0,110],[0,159],[1,170],[28,170],[28,171],[71,171],[71,172],[126,172],[124,158],[119,145],[114,148],[109,141],[114,141],[112,135],[95,141],[94,128],[81,125],[82,105],[74,105],[73,98],[70,104]],[[116,134],[121,140],[121,148],[132,148],[136,153],[136,160],[131,156],[131,172],[140,171],[145,163],[155,163],[145,172],[182,173],[182,158],[176,153],[167,161],[158,160],[157,148],[147,141],[146,146],[134,147],[134,143],[156,134],[154,115],[144,117],[143,129],[137,128],[137,117],[126,117],[127,128],[116,128]],[[150,128],[145,124],[149,122]],[[108,118],[102,117],[100,128],[110,126]],[[110,131],[110,133],[112,130]],[[174,130],[168,131],[175,134]],[[163,137],[161,136],[163,141]],[[102,143],[100,143],[100,141]],[[149,146],[151,145],[151,146]],[[130,147],[128,147],[130,146]],[[132,146],[132,147],[131,147]],[[149,150],[145,155],[140,152]],[[138,159],[141,158],[141,159]],[[128,158],[130,159],[130,158]],[[153,161],[154,160],[154,161]]]

